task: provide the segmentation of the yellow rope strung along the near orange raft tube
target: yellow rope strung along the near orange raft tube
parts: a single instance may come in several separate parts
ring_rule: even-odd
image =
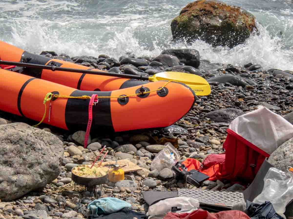
[[[151,92],[155,92],[155,91],[159,91],[159,90],[163,89],[170,82],[172,82],[172,81],[167,81],[161,88],[158,88],[158,89],[152,90],[152,91],[135,93],[135,94],[125,95],[125,96],[110,96],[110,97],[98,97],[98,98],[126,98],[126,97],[137,96],[137,95],[140,95],[140,94],[151,93]],[[80,97],[72,97],[72,96],[66,96],[66,95],[59,95],[59,94],[47,93],[46,96],[45,96],[45,98],[44,98],[44,101],[43,101],[43,104],[45,105],[45,113],[43,115],[42,120],[37,125],[35,125],[35,126],[40,125],[44,121],[44,119],[46,117],[46,112],[47,112],[46,103],[48,101],[52,100],[53,97],[54,98],[68,98],[68,99],[91,99],[91,97],[90,96],[87,96],[87,95],[83,95],[83,96],[80,96]],[[35,126],[33,126],[33,127],[35,127]]]

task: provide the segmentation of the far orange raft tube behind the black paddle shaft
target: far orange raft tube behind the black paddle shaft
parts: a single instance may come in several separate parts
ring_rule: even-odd
[[[22,73],[83,91],[113,91],[122,88],[151,83],[149,81],[95,75],[94,72],[106,71],[29,53],[3,41],[0,41],[0,59],[3,61],[25,62],[49,66],[56,65],[58,67],[65,68],[92,70],[93,74],[82,74],[77,72],[63,72],[52,71],[48,69],[26,68],[25,72]],[[7,66],[1,65],[1,67],[4,68]]]

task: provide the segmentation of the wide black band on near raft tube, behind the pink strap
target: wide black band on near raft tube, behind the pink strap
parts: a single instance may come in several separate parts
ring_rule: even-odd
[[[111,96],[111,91],[79,91],[76,90],[70,94],[73,97],[82,95],[91,96]],[[65,123],[70,131],[86,130],[88,124],[88,104],[90,100],[68,99],[65,108]],[[91,132],[114,132],[110,98],[99,98],[98,104],[93,105],[93,121]]]

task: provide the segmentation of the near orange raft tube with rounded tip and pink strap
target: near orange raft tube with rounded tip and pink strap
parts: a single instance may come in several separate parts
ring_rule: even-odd
[[[35,121],[42,120],[47,93],[71,97],[97,94],[98,103],[92,108],[91,131],[119,132],[170,126],[182,118],[195,101],[191,88],[178,82],[152,82],[144,88],[153,92],[139,94],[142,86],[115,91],[80,91],[4,69],[0,69],[0,74],[0,110]],[[155,91],[161,87],[163,89]],[[116,98],[121,95],[133,96]],[[86,130],[89,102],[89,99],[53,98],[50,122],[50,101],[46,102],[43,122],[65,130]]]

